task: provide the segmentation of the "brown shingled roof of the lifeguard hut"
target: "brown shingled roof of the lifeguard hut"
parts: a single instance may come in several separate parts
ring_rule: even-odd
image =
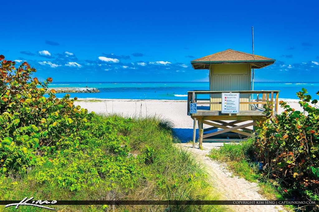
[[[271,65],[276,60],[260,55],[227,49],[202,58],[190,61],[194,69],[209,69],[210,64],[249,63],[251,68],[262,68]]]

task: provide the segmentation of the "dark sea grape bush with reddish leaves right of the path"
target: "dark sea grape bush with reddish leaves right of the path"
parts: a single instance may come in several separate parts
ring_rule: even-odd
[[[319,199],[319,107],[306,89],[297,92],[303,112],[280,101],[285,109],[271,118],[271,107],[265,107],[265,118],[258,123],[256,154],[269,169],[269,177],[280,179],[291,195]],[[319,91],[316,93],[319,95]]]

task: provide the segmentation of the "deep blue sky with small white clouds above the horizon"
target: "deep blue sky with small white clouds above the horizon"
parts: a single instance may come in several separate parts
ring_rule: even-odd
[[[190,60],[274,58],[256,81],[319,81],[315,1],[5,1],[0,54],[54,81],[207,81]]]

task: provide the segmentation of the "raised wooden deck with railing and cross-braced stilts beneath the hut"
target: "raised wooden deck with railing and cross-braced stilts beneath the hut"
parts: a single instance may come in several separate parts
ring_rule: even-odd
[[[221,95],[223,92],[240,93],[249,95],[246,98],[248,101],[240,102],[239,104],[248,104],[250,110],[240,110],[239,113],[221,113],[220,110],[211,110],[211,105],[220,104],[221,100],[212,102],[211,99],[198,98],[198,95]],[[269,104],[273,107],[271,115],[276,115],[278,112],[278,93],[279,91],[189,91],[188,92],[188,115],[194,120],[193,131],[193,146],[195,146],[195,130],[196,122],[198,122],[199,129],[199,146],[203,139],[209,141],[213,140],[213,136],[219,135],[224,137],[234,137],[234,135],[241,135],[245,137],[254,136],[254,130],[250,129],[256,124],[256,121],[265,116],[263,106]],[[254,97],[256,96],[256,99]],[[214,98],[218,99],[218,98]],[[197,104],[197,113],[190,113],[190,103]],[[205,106],[209,105],[209,106]],[[247,108],[247,107],[245,107]],[[247,123],[247,121],[251,121]],[[204,129],[203,124],[211,127]],[[250,127],[250,128],[248,128]],[[208,132],[214,131],[214,132]],[[204,132],[206,132],[204,134]],[[220,138],[219,138],[220,140]]]

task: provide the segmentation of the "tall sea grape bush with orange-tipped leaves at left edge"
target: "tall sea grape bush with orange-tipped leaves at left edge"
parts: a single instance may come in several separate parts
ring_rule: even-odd
[[[74,138],[93,115],[74,106],[76,98],[55,98],[54,89],[44,97],[52,79],[32,79],[35,71],[26,62],[16,69],[0,55],[0,173],[25,172],[63,146],[77,147]]]

